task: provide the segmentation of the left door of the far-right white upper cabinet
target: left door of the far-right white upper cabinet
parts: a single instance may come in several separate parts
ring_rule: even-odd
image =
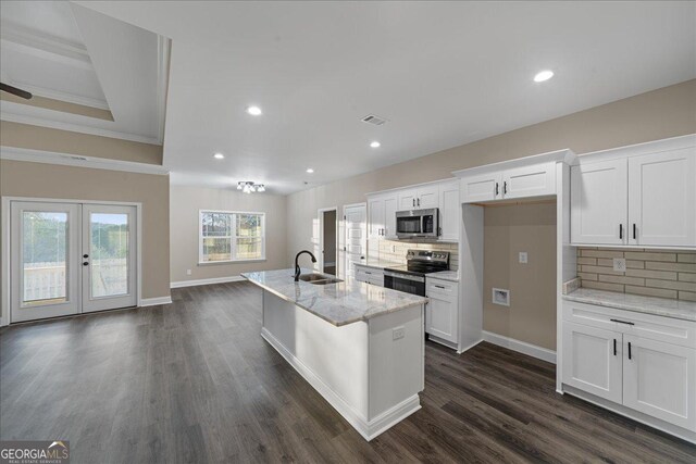
[[[611,160],[571,167],[571,242],[626,243],[626,160]]]

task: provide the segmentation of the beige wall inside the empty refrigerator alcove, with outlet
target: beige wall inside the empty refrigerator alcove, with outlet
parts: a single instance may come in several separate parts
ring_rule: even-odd
[[[556,202],[487,206],[484,256],[484,330],[556,350]],[[510,290],[509,308],[493,288]]]

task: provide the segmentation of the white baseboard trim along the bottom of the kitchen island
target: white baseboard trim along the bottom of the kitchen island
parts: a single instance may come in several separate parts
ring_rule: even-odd
[[[311,385],[328,403],[344,416],[346,421],[364,438],[370,441],[391,426],[403,421],[421,409],[421,401],[418,394],[407,398],[399,404],[388,409],[372,421],[366,421],[362,414],[353,410],[344,401],[330,386],[319,378],[307,365],[298,360],[287,348],[283,346],[265,327],[261,329],[261,337],[281,353],[299,375]]]

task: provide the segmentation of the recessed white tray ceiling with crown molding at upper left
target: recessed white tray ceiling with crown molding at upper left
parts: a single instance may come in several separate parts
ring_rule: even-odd
[[[161,37],[67,1],[2,1],[0,20],[3,81],[114,118],[2,101],[3,120],[162,143],[169,50]]]

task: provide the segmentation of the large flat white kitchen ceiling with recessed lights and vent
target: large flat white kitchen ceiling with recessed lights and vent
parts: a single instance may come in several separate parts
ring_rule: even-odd
[[[77,3],[173,39],[175,183],[290,192],[696,77],[694,2]]]

